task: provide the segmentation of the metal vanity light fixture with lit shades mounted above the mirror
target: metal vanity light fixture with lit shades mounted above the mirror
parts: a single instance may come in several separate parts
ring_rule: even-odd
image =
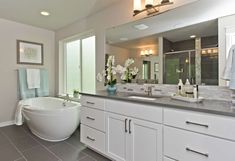
[[[155,13],[159,12],[159,8],[162,6],[172,5],[173,2],[170,2],[170,0],[162,0],[158,4],[154,4],[153,0],[145,0],[145,8],[141,8],[142,0],[134,0],[134,13],[133,16],[136,16],[142,12],[147,12],[147,15],[153,15]]]

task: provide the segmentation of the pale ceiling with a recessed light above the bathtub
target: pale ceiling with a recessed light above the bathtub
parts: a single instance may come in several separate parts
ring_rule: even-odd
[[[0,0],[0,18],[58,30],[120,0]],[[50,16],[40,15],[42,10]]]

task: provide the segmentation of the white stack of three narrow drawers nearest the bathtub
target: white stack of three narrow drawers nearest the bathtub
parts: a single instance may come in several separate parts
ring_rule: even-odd
[[[105,154],[105,101],[81,97],[81,142]]]

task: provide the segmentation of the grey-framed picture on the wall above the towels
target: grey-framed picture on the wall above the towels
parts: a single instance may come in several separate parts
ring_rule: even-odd
[[[17,64],[43,65],[43,44],[17,40]]]

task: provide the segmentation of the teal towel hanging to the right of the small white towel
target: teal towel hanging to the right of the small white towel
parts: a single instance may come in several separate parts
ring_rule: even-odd
[[[48,70],[40,70],[40,88],[36,89],[37,97],[46,97],[49,96],[49,79],[48,79]]]

